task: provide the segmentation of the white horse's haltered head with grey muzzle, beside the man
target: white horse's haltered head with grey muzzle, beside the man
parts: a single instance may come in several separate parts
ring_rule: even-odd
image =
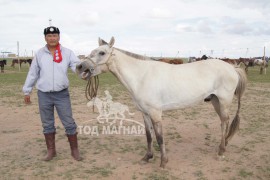
[[[77,74],[84,80],[109,71],[107,62],[112,55],[114,37],[111,38],[109,43],[100,38],[98,42],[99,47],[76,66]]]

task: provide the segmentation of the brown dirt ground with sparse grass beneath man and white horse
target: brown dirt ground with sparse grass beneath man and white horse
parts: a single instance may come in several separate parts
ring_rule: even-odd
[[[78,126],[98,116],[86,106],[83,89],[70,89]],[[115,101],[135,113],[132,119],[143,123],[141,113],[126,92],[116,96],[115,89],[109,91]],[[24,105],[22,100],[23,96],[9,96],[0,101],[0,179],[270,179],[269,83],[248,84],[240,111],[240,131],[229,142],[223,160],[217,158],[220,120],[210,103],[165,112],[163,127],[169,158],[165,169],[159,167],[156,142],[154,158],[147,164],[140,163],[146,152],[146,137],[133,135],[80,133],[79,148],[84,160],[76,162],[70,156],[58,117],[57,157],[50,162],[41,161],[46,146],[36,91],[31,105]],[[230,109],[231,119],[236,105],[235,100]],[[88,123],[101,126],[97,121]]]

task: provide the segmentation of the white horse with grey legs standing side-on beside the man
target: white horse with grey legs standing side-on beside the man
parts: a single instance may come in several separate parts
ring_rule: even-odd
[[[246,74],[240,68],[210,59],[175,66],[145,61],[144,56],[113,47],[99,39],[99,47],[77,65],[82,79],[110,71],[130,92],[137,108],[143,113],[148,150],[143,161],[153,157],[151,127],[153,126],[161,152],[161,167],[168,157],[162,130],[162,111],[185,108],[211,101],[221,120],[221,143],[218,155],[223,157],[225,146],[239,128],[240,100],[246,87]],[[228,108],[236,95],[238,109],[229,126]]]

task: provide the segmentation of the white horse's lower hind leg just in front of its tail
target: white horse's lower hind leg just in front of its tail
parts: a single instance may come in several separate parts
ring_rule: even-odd
[[[228,133],[229,129],[229,115],[228,115],[228,110],[225,105],[223,105],[217,96],[213,96],[211,99],[211,102],[221,120],[221,143],[219,145],[219,156],[223,156],[223,153],[225,152],[225,137]],[[226,126],[226,127],[225,127]]]

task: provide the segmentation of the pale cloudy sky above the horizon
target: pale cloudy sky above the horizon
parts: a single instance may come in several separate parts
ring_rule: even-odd
[[[49,19],[76,55],[114,36],[152,57],[270,56],[269,0],[0,0],[0,51],[32,56]]]

